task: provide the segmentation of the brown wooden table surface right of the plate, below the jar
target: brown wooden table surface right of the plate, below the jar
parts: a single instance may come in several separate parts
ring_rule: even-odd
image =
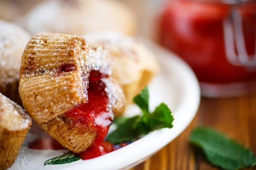
[[[188,142],[191,130],[198,125],[221,130],[256,153],[256,95],[228,99],[202,98],[198,113],[186,130],[131,170],[218,170]]]

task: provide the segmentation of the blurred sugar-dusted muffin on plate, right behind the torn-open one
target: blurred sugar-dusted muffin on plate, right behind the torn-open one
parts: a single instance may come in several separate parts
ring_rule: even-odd
[[[115,32],[84,36],[91,45],[104,45],[111,57],[112,76],[121,85],[126,103],[131,104],[159,70],[154,54],[134,37]]]

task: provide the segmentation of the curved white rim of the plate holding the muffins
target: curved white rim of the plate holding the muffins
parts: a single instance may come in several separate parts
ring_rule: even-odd
[[[116,36],[121,33],[113,32],[113,31],[103,31],[103,32],[93,32],[87,34],[87,36],[97,35],[100,37],[108,36]],[[182,68],[182,71],[177,71],[180,79],[183,82],[189,82],[185,84],[186,95],[182,99],[181,105],[175,110],[175,121],[173,122],[174,127],[172,129],[160,129],[155,130],[143,138],[120,148],[119,150],[115,150],[114,152],[108,153],[106,155],[85,160],[85,161],[75,161],[71,164],[61,164],[61,165],[49,165],[55,166],[56,169],[61,168],[62,170],[69,169],[84,169],[87,170],[118,170],[124,168],[131,168],[136,165],[136,162],[145,159],[148,156],[152,156],[158,150],[169,144],[172,140],[174,140],[180,133],[185,130],[185,128],[192,122],[192,119],[197,113],[199,103],[200,103],[200,87],[199,82],[186,62],[183,61],[180,57],[177,57],[176,54],[172,53],[157,45],[155,42],[151,40],[147,40],[143,37],[137,36],[140,41],[142,41],[146,46],[152,46],[157,51],[162,53],[160,57],[166,61],[166,64],[169,62],[175,63],[175,70]],[[153,139],[155,134],[160,134],[162,136],[160,139]],[[171,135],[170,135],[171,134]],[[149,141],[149,142],[148,142]],[[134,153],[134,148],[136,148],[136,153]],[[148,149],[150,148],[150,149]],[[125,155],[123,154],[125,153]],[[114,159],[108,161],[109,159]],[[100,163],[99,163],[100,162]],[[48,166],[48,165],[47,165]],[[52,169],[52,167],[50,168]]]

